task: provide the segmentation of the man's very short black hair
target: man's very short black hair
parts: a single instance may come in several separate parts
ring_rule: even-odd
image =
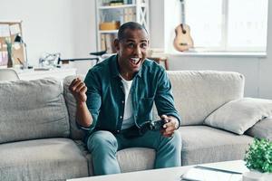
[[[146,30],[146,28],[143,25],[138,24],[136,22],[127,22],[127,23],[121,24],[121,26],[119,28],[119,31],[118,31],[118,34],[117,34],[119,41],[125,39],[125,31],[127,29],[144,30],[149,35],[148,31]]]

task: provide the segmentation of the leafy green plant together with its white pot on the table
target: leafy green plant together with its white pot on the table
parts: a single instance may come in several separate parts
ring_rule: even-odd
[[[244,180],[272,180],[272,142],[268,139],[255,138],[249,145],[245,156],[246,166],[250,172],[245,173]]]

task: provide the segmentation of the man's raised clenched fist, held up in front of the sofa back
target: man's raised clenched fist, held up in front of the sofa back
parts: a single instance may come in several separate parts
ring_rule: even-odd
[[[80,80],[79,78],[74,79],[69,86],[69,90],[72,92],[74,99],[78,103],[86,102],[87,87],[82,80]]]

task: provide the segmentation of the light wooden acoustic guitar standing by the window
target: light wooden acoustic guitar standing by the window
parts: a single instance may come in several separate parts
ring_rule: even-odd
[[[177,51],[188,51],[189,48],[194,46],[194,42],[190,36],[189,25],[185,24],[185,8],[184,0],[180,0],[181,3],[181,24],[175,28],[174,47]]]

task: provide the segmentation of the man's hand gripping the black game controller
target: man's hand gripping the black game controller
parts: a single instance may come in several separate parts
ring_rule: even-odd
[[[174,134],[174,131],[179,127],[179,120],[172,116],[161,115],[160,119],[165,121],[163,129],[160,130],[160,133],[164,137],[171,137]]]

